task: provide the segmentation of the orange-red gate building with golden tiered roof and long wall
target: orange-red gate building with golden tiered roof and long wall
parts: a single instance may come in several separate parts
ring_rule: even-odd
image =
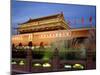
[[[44,46],[50,46],[59,40],[89,38],[90,31],[94,30],[93,27],[72,29],[65,21],[63,13],[60,13],[20,23],[17,28],[18,35],[12,36],[12,44],[18,46],[21,43],[23,46],[27,46],[31,41],[33,46],[39,46],[41,42]]]

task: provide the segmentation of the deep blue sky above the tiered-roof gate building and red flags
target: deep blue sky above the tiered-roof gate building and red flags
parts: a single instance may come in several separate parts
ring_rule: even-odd
[[[96,7],[89,5],[57,4],[12,1],[11,5],[12,27],[18,27],[18,23],[23,23],[29,18],[39,18],[52,14],[64,13],[66,21],[70,21],[70,27],[89,27],[89,17],[92,16],[92,24],[96,25]],[[84,25],[81,19],[84,18]],[[76,23],[74,22],[76,20]]]

